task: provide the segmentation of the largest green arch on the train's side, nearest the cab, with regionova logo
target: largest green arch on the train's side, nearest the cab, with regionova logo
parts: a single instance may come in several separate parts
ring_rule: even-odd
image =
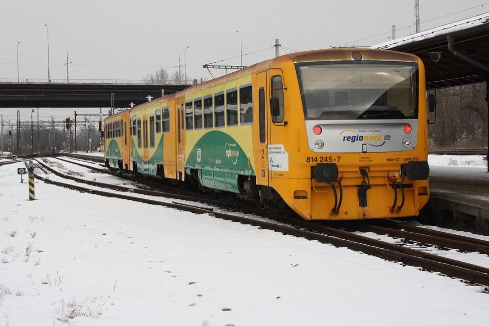
[[[236,140],[222,131],[211,131],[193,146],[185,167],[213,170],[241,175],[255,175],[246,153]]]

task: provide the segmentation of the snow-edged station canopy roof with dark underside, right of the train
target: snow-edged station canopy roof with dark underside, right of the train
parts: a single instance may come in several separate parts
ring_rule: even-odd
[[[453,37],[453,45],[458,53],[477,61],[479,65],[452,54],[448,48],[448,35]],[[489,76],[489,13],[390,40],[371,48],[419,56],[426,68],[427,89],[484,82],[486,76]],[[439,60],[435,62],[437,57]]]

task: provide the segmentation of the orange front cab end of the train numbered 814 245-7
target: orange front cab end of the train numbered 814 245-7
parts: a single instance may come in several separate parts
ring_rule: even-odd
[[[374,50],[362,50],[364,61],[359,63],[352,52],[357,51],[340,49],[294,62],[279,58],[274,62],[277,68],[254,76],[259,103],[256,180],[262,185],[261,195],[273,200],[276,191],[306,219],[418,215],[429,195],[424,66],[415,56]],[[350,74],[355,64],[363,70],[356,74],[360,79],[354,80],[354,87],[321,85],[322,78],[333,82],[324,77],[325,69],[332,68],[331,76]],[[307,85],[302,80],[306,75]],[[387,77],[375,84],[374,76]],[[359,86],[362,78],[370,81]],[[387,92],[389,87],[393,89]],[[392,103],[409,96],[407,87],[415,93],[410,107],[395,108]],[[300,96],[308,92],[309,98]],[[348,92],[352,102],[335,106],[339,92]],[[355,108],[361,94],[374,98],[370,105]],[[302,110],[308,104],[311,110]],[[321,117],[320,108],[329,110],[327,118]],[[355,110],[354,118],[341,115]]]

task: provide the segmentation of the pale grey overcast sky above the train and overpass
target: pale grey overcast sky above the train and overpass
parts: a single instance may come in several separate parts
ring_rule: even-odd
[[[414,5],[415,0],[1,0],[0,79],[17,78],[17,42],[19,78],[47,79],[44,24],[51,79],[66,78],[66,52],[70,80],[142,79],[161,67],[172,74],[178,55],[182,72],[186,59],[190,78],[210,79],[203,64],[233,57],[219,63],[240,64],[236,30],[241,30],[243,65],[251,65],[275,56],[276,38],[286,54],[378,44],[391,36],[392,25],[396,37],[411,34]],[[487,0],[420,0],[421,30],[487,11]],[[223,73],[212,70],[214,76]],[[16,110],[0,114],[16,120]],[[39,118],[58,114],[69,115],[40,109]],[[30,109],[21,115],[30,120]]]

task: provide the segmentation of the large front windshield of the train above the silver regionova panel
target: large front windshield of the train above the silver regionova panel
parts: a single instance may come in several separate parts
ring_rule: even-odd
[[[410,63],[300,64],[306,119],[416,119],[417,71]]]

